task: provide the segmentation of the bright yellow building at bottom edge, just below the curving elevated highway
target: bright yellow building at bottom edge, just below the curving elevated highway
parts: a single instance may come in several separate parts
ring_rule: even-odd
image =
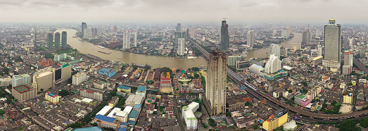
[[[278,127],[281,127],[286,122],[288,122],[288,113],[285,113],[283,116],[279,118],[274,118],[274,115],[269,116],[268,120],[265,120],[262,127],[265,130],[275,130]]]

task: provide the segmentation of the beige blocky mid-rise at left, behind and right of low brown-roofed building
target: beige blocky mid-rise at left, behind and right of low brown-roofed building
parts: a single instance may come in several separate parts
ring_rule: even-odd
[[[32,87],[37,88],[37,92],[53,87],[53,72],[42,70],[33,75]]]

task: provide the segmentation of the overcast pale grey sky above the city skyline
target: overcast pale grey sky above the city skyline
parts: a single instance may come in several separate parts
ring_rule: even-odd
[[[366,0],[0,0],[0,23],[364,23]]]

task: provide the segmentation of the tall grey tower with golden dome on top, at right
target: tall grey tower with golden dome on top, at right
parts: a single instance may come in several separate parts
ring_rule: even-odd
[[[338,72],[341,66],[341,25],[334,18],[324,25],[324,60],[322,65]]]

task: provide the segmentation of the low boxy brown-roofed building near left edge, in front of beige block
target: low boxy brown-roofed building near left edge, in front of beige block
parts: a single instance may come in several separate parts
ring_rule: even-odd
[[[31,85],[21,85],[18,87],[13,87],[11,89],[11,94],[14,96],[15,99],[18,101],[23,102],[27,101],[28,99],[32,99],[37,95],[37,89],[32,88]]]

